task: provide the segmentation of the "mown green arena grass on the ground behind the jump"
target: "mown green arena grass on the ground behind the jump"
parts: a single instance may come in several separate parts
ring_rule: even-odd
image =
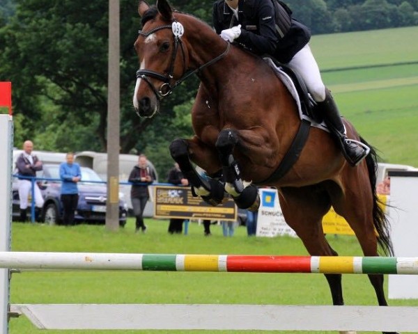
[[[74,228],[13,223],[15,251],[102,253],[260,254],[307,255],[300,239],[247,237],[244,227],[231,238],[212,225],[212,236],[191,223],[188,235],[167,233],[168,221],[147,220],[146,234],[135,234],[132,218],[125,229],[109,232],[102,226]],[[361,255],[354,237],[330,236],[340,255]],[[369,280],[346,275],[347,305],[376,305]],[[13,274],[11,303],[249,303],[328,305],[330,292],[320,274],[189,273],[189,272],[24,272]],[[417,301],[389,301],[390,305],[417,305]],[[11,319],[10,334],[41,333],[27,319]],[[42,332],[43,333],[43,332]],[[59,334],[68,331],[48,331]],[[72,333],[102,333],[72,331]],[[167,333],[165,331],[111,331],[111,333]],[[180,331],[174,332],[180,333]],[[193,331],[191,333],[222,333]],[[226,332],[224,332],[226,333]],[[237,333],[240,333],[239,331]],[[256,331],[242,333],[257,333]],[[265,333],[265,332],[263,332]],[[277,332],[276,332],[277,333]],[[291,332],[283,332],[291,333]],[[318,332],[319,333],[319,332]]]

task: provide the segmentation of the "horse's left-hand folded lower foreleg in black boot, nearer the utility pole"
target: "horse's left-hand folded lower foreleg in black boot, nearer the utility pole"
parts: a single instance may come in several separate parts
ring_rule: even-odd
[[[192,186],[193,196],[198,196],[195,189],[201,195],[201,198],[210,205],[218,205],[224,199],[224,184],[215,179],[206,179],[199,175],[189,159],[189,151],[187,150],[187,142],[183,139],[176,139],[170,145],[171,157],[178,163],[180,170],[189,180]]]

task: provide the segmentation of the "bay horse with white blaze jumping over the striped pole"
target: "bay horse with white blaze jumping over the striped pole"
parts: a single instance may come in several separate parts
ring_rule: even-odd
[[[359,165],[350,166],[330,134],[312,127],[304,145],[288,154],[303,121],[295,99],[263,58],[230,45],[205,22],[173,10],[167,0],[155,6],[141,0],[138,12],[143,30],[134,43],[140,68],[133,104],[139,116],[153,117],[160,100],[190,75],[201,81],[192,107],[194,136],[170,145],[196,195],[217,205],[226,191],[238,207],[255,211],[256,185],[274,186],[286,223],[309,254],[338,255],[322,227],[332,206],[346,218],[365,256],[378,256],[378,245],[393,255],[388,221],[376,196],[373,148]],[[344,123],[348,138],[366,143],[350,122]],[[289,155],[291,164],[283,164]],[[202,177],[195,166],[211,177]],[[341,274],[325,277],[333,304],[343,305]],[[383,276],[369,275],[369,280],[378,304],[387,305]]]

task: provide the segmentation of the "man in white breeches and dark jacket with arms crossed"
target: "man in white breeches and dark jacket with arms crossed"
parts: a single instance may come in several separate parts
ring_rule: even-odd
[[[36,157],[35,154],[32,154],[33,143],[31,141],[25,141],[23,143],[22,154],[17,157],[16,168],[17,168],[17,177],[19,178],[18,187],[19,187],[19,199],[20,199],[20,221],[27,220],[26,209],[28,207],[28,198],[29,193],[31,193],[32,182],[24,177],[36,177],[36,171],[42,170],[42,161]],[[42,198],[42,193],[40,192],[38,184],[34,184],[33,189],[33,198],[35,199],[35,218],[37,221],[40,220],[40,213],[42,212],[42,207],[44,205],[44,200]]]

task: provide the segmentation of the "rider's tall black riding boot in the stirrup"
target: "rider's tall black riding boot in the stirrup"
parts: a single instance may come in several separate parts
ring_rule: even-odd
[[[326,91],[326,97],[323,102],[318,102],[320,112],[323,114],[325,124],[330,129],[332,136],[334,136],[341,147],[344,157],[351,166],[357,166],[362,159],[369,154],[370,149],[363,143],[348,139],[346,136],[346,129],[341,120],[338,107],[334,102],[330,90]]]

